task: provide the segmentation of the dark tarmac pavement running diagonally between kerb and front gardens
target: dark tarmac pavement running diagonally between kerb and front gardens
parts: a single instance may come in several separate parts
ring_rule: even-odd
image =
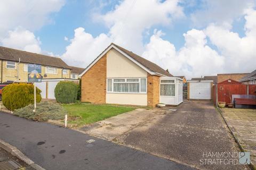
[[[0,138],[45,169],[192,169],[49,123],[0,112]],[[87,140],[95,140],[87,143]]]

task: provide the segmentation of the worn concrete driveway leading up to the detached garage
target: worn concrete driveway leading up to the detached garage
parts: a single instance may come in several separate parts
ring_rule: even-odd
[[[185,101],[178,107],[141,111],[140,115],[143,114],[150,116],[131,126],[126,132],[116,131],[115,127],[121,127],[124,122],[118,119],[120,115],[105,120],[108,124],[114,124],[114,128],[110,127],[108,130],[107,126],[98,126],[89,132],[97,137],[104,136],[103,138],[122,145],[200,169],[247,168],[242,165],[206,165],[200,162],[200,159],[205,158],[203,153],[206,152],[239,151],[226,124],[210,101]],[[126,117],[126,126],[134,119],[136,117]]]

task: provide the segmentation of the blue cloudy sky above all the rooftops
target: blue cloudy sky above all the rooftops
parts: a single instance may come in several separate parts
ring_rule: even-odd
[[[256,69],[255,0],[3,0],[0,45],[86,67],[111,42],[187,78]]]

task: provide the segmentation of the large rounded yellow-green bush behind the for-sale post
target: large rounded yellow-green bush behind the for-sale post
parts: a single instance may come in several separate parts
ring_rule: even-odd
[[[36,88],[36,102],[40,102],[41,90]],[[12,83],[3,88],[3,105],[11,110],[34,104],[34,85],[28,83]]]

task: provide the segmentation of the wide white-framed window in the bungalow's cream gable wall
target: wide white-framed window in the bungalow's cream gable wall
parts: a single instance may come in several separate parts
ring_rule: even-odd
[[[126,94],[146,94],[147,78],[107,79],[107,92]]]

